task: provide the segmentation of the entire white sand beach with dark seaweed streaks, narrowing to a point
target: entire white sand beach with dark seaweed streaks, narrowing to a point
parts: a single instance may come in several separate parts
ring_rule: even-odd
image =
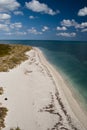
[[[8,109],[3,130],[87,130],[87,118],[60,74],[38,48],[26,54],[28,60],[0,72],[0,102]]]

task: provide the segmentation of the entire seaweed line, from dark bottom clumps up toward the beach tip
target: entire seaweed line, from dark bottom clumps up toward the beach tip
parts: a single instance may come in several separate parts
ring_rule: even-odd
[[[39,53],[38,53],[38,57],[39,57],[39,60],[40,60],[41,64],[42,64],[43,67],[45,68],[45,70],[46,70],[46,72],[47,72],[49,78],[52,80],[52,82],[53,82],[53,84],[54,84],[54,86],[55,86],[55,97],[56,97],[56,100],[57,100],[58,104],[59,104],[60,107],[61,107],[62,112],[64,113],[64,115],[65,115],[65,117],[66,117],[66,120],[67,120],[67,122],[68,122],[68,125],[69,125],[69,126],[71,127],[71,129],[73,129],[73,130],[79,130],[78,128],[76,128],[76,127],[73,125],[71,116],[68,114],[68,112],[67,112],[67,110],[65,109],[65,106],[64,106],[64,104],[63,104],[63,102],[62,102],[62,100],[61,100],[61,98],[60,98],[60,94],[59,94],[59,91],[58,91],[58,89],[57,89],[57,85],[56,85],[56,83],[55,83],[55,80],[54,80],[52,74],[50,73],[50,70],[48,69],[48,67],[42,62]],[[51,94],[51,100],[52,100],[52,101],[51,101],[51,104],[48,104],[47,106],[43,107],[43,109],[41,109],[40,111],[41,111],[41,112],[43,112],[43,111],[49,112],[50,114],[55,114],[55,115],[57,115],[57,116],[59,117],[59,121],[58,121],[58,122],[54,125],[54,127],[51,129],[51,130],[57,130],[57,129],[59,129],[59,128],[58,128],[59,126],[63,126],[63,123],[62,123],[62,120],[63,120],[63,119],[62,119],[62,116],[61,116],[61,114],[60,114],[59,112],[56,112],[56,113],[55,113],[54,104],[53,104],[53,102],[54,102],[53,100],[54,100],[54,99],[53,99],[52,94]],[[60,130],[68,130],[68,128],[61,127]]]

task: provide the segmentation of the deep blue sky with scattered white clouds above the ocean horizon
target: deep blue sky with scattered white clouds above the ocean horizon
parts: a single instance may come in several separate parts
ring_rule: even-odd
[[[0,0],[0,39],[87,41],[87,0]]]

